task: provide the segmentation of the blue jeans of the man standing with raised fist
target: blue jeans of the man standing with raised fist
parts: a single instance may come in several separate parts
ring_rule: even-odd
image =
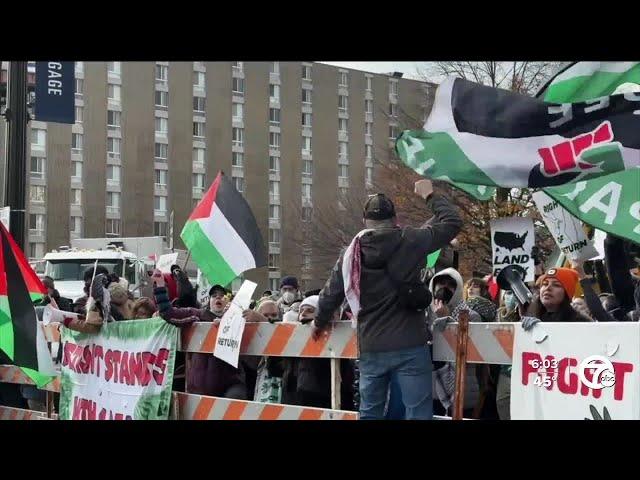
[[[407,420],[431,420],[433,395],[428,346],[360,355],[360,418],[382,420],[391,377],[400,387]]]

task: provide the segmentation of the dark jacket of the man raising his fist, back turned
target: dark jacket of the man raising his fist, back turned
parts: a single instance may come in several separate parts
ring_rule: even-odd
[[[447,245],[462,227],[458,212],[445,197],[433,195],[429,204],[434,217],[421,228],[377,229],[360,238],[358,346],[361,352],[401,350],[427,342],[425,313],[402,308],[395,284],[419,281],[427,254]],[[317,326],[323,327],[329,322],[344,296],[341,255],[320,292]]]

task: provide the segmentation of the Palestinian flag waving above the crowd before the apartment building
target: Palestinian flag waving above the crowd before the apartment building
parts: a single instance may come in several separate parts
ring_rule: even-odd
[[[242,272],[267,263],[251,208],[222,172],[196,205],[180,237],[212,285],[228,285]]]

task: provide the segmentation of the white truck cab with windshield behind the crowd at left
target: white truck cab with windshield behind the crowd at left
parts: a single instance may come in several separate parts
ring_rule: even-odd
[[[53,278],[60,296],[76,302],[84,297],[84,273],[93,269],[96,260],[109,273],[116,273],[129,282],[129,290],[134,296],[140,295],[140,288],[145,276],[144,265],[130,252],[107,249],[69,249],[61,247],[44,256],[44,274]]]

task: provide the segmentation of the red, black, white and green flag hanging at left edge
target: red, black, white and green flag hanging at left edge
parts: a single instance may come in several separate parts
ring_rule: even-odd
[[[47,289],[3,224],[0,243],[0,349],[42,387],[56,371],[33,301]]]

